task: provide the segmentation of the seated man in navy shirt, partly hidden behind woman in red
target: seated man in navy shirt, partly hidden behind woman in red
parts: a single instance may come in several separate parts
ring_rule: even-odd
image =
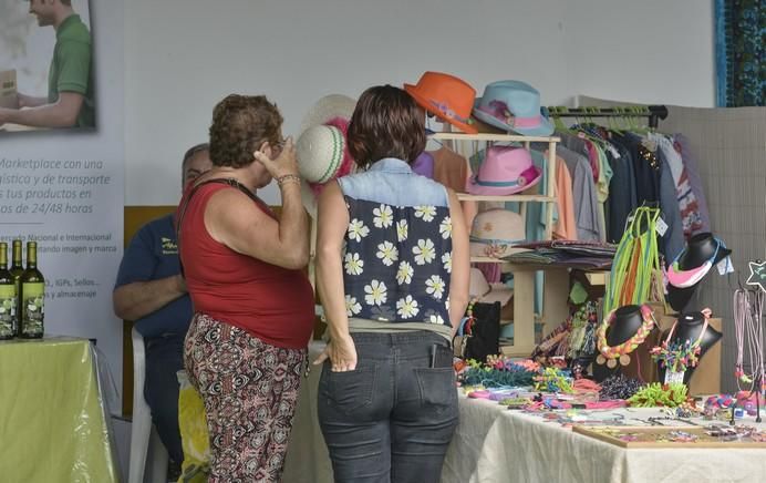
[[[183,186],[213,167],[207,144],[189,148],[182,164]],[[180,465],[184,451],[178,430],[178,380],[184,369],[184,338],[192,320],[192,300],[180,275],[174,214],[144,225],[125,249],[112,295],[114,312],[134,320],[146,345],[144,398],[159,439]]]

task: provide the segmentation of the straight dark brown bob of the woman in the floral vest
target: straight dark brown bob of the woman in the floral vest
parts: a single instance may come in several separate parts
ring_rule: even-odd
[[[349,152],[361,167],[384,157],[412,163],[425,150],[423,111],[393,85],[362,93],[349,124]]]

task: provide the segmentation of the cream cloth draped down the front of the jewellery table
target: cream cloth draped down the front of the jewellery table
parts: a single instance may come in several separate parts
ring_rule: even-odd
[[[611,412],[640,420],[661,415],[658,409]],[[442,481],[698,483],[759,480],[764,474],[766,449],[627,450],[540,417],[460,397],[460,424]]]

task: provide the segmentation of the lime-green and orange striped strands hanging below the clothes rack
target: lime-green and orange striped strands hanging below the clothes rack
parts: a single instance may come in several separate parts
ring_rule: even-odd
[[[662,271],[656,244],[660,209],[641,206],[628,218],[620,239],[603,298],[604,312],[625,305],[639,305],[654,298],[664,302],[660,287]],[[655,280],[655,284],[652,284]]]

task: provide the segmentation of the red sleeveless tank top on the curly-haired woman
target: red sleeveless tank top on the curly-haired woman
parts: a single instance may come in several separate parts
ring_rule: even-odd
[[[314,296],[308,277],[241,255],[213,239],[205,228],[205,207],[224,184],[197,188],[180,227],[180,259],[194,309],[247,330],[277,347],[306,348],[314,323]],[[184,206],[189,191],[184,194]],[[260,199],[259,209],[276,219]],[[176,217],[176,219],[178,219]]]

